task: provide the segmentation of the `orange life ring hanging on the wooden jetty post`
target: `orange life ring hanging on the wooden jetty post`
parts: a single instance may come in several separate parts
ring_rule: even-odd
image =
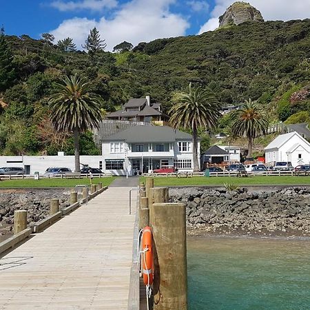
[[[145,285],[153,283],[153,251],[152,251],[152,230],[147,226],[143,229],[142,242],[142,271],[143,282]]]

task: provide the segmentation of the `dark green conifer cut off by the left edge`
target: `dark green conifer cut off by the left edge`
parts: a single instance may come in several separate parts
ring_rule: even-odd
[[[0,92],[6,90],[10,83],[14,80],[15,70],[13,66],[13,54],[6,36],[4,29],[0,29]]]

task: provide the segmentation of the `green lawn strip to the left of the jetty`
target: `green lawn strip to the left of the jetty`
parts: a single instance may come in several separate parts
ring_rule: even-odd
[[[115,177],[110,178],[93,178],[92,184],[102,183],[103,186],[110,185]],[[75,185],[90,185],[89,178],[33,178],[1,180],[0,187],[74,187]]]

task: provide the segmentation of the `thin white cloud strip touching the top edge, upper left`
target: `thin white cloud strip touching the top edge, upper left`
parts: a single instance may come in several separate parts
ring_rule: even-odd
[[[81,0],[81,1],[52,1],[52,8],[56,8],[61,12],[74,10],[103,10],[103,8],[115,8],[116,0]]]

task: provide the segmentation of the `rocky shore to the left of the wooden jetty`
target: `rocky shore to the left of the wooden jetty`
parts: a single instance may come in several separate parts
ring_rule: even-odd
[[[48,216],[50,199],[58,198],[60,209],[70,205],[69,189],[1,189],[0,235],[12,234],[14,211],[28,210],[28,224],[32,225]]]

